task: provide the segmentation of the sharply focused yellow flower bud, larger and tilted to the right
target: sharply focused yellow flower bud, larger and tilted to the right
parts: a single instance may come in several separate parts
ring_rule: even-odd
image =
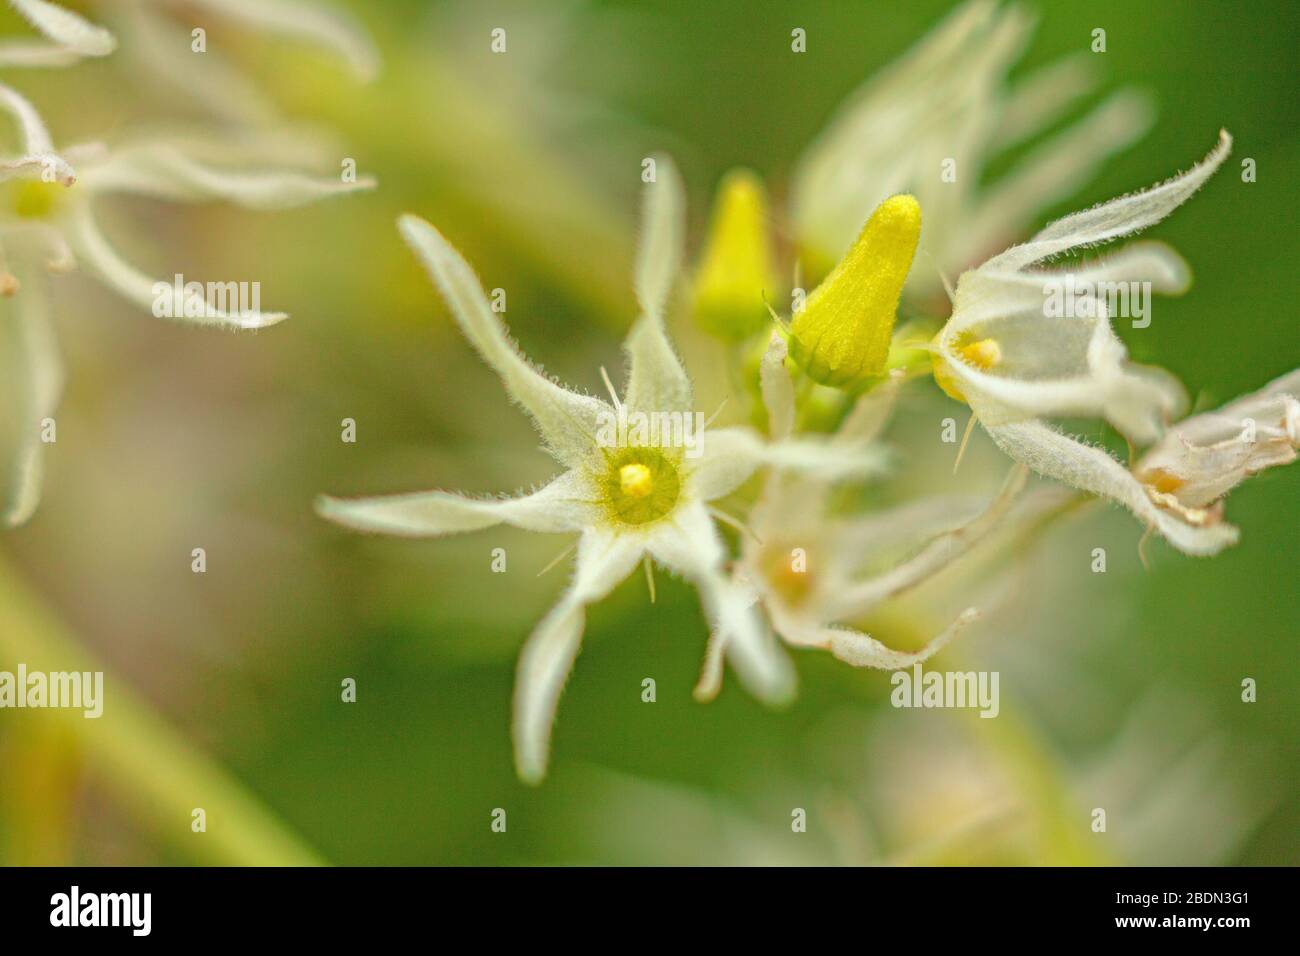
[[[814,381],[850,388],[885,371],[898,297],[920,238],[913,196],[883,202],[790,324],[790,355]]]

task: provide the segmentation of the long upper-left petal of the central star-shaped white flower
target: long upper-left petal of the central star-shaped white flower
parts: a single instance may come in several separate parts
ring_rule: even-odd
[[[597,398],[556,385],[520,355],[488,304],[473,269],[437,229],[410,215],[402,216],[398,225],[407,245],[429,271],[465,338],[502,377],[511,398],[533,416],[551,453],[569,467],[586,460],[595,449],[601,421],[608,420],[614,408]]]

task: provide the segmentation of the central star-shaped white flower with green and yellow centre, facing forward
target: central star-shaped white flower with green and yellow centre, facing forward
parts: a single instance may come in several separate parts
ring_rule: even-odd
[[[603,421],[630,412],[693,414],[693,388],[664,330],[682,256],[682,199],[676,172],[656,160],[658,182],[647,186],[646,222],[637,260],[636,291],[642,316],[625,351],[628,381],[615,405],[562,388],[519,352],[493,313],[469,265],[428,222],[403,216],[400,230],[482,359],[523,406],[546,449],[566,468],[542,489],[516,498],[474,499],[446,492],[381,498],[321,498],[322,516],[359,531],[437,536],[511,524],[526,531],[578,533],[573,579],[537,626],[519,661],[515,689],[515,756],[519,774],[538,782],[546,773],[556,704],[582,637],[585,607],[599,601],[640,562],[654,559],[698,588],[710,624],[724,635],[741,680],[766,701],[790,696],[794,675],[750,606],[725,574],[727,551],[707,503],[734,490],[758,467],[867,471],[870,453],[838,453],[810,440],[767,445],[748,428],[711,428],[703,454],[689,458],[671,444],[646,441],[603,446]]]

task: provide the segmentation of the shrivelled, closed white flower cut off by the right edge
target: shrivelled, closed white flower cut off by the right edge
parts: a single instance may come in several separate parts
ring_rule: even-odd
[[[1300,369],[1169,429],[1134,468],[1156,505],[1188,520],[1300,447]]]

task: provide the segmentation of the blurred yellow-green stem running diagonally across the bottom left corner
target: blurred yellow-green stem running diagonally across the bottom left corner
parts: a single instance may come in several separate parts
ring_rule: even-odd
[[[198,862],[313,866],[321,857],[247,788],[191,747],[124,680],[78,646],[56,615],[0,555],[0,666],[34,671],[103,671],[104,713],[52,708],[42,718],[75,737],[86,765],[144,827]],[[191,831],[202,808],[207,831]]]

